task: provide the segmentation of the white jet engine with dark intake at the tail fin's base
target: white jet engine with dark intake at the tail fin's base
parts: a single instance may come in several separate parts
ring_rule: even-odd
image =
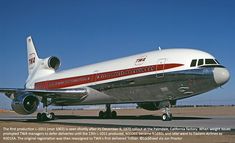
[[[43,60],[44,68],[57,70],[60,67],[60,59],[51,56]]]

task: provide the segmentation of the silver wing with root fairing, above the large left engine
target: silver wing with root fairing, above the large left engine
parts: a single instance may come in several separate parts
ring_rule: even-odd
[[[0,93],[11,99],[22,94],[33,94],[41,98],[51,98],[53,105],[96,105],[107,103],[119,103],[120,101],[113,96],[97,91],[90,87],[76,89],[20,89],[20,88],[0,88]]]

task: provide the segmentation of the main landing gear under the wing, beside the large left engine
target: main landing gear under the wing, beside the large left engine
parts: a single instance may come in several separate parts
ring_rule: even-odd
[[[37,114],[37,120],[38,121],[48,121],[48,120],[54,120],[55,119],[55,114],[53,112],[48,113],[47,111],[47,106],[49,104],[48,103],[48,99],[47,98],[43,98],[42,99],[42,103],[43,103],[43,108],[45,109],[44,112],[42,113],[38,113]]]

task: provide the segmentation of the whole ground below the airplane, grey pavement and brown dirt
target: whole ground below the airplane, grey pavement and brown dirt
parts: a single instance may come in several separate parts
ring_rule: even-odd
[[[113,110],[116,119],[100,119],[97,109],[53,110],[56,119],[44,122],[36,120],[36,113],[2,110],[0,142],[235,143],[234,106],[172,108],[172,121],[162,121],[161,110]]]

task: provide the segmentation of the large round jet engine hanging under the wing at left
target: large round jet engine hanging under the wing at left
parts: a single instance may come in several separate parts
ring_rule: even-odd
[[[12,109],[23,115],[32,114],[37,110],[38,105],[39,99],[30,93],[16,95],[11,103]]]

